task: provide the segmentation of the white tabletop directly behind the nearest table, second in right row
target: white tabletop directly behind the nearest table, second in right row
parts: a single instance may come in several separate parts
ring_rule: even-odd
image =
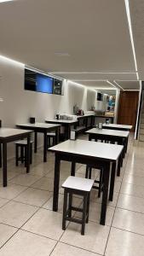
[[[88,134],[101,134],[101,135],[109,135],[115,137],[128,137],[130,131],[119,131],[119,130],[109,130],[109,129],[97,129],[92,128],[89,131],[85,131]]]

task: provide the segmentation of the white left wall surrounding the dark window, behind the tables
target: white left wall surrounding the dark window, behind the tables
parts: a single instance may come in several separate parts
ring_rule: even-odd
[[[95,91],[64,81],[64,96],[24,90],[24,66],[0,59],[0,119],[5,127],[26,123],[30,116],[38,122],[54,118],[55,113],[73,113],[77,103],[84,111],[95,104]],[[40,142],[39,142],[40,143]],[[14,154],[11,145],[9,155]]]

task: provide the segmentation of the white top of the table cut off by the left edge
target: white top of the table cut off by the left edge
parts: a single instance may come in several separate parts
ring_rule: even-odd
[[[20,135],[28,132],[32,132],[32,131],[3,127],[3,128],[0,128],[0,138],[11,137],[11,136]]]

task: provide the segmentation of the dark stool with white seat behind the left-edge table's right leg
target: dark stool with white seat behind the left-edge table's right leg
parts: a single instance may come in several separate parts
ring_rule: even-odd
[[[32,143],[33,141],[30,142],[30,163],[32,164]],[[27,140],[20,140],[15,142],[15,165],[19,165],[19,161],[21,163],[25,162],[26,166],[26,147],[27,147]],[[19,148],[20,148],[20,156],[19,156]]]

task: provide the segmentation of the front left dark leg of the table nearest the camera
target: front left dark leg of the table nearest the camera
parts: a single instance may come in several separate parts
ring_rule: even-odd
[[[54,193],[53,193],[53,211],[58,210],[59,200],[59,182],[60,182],[60,158],[55,154],[55,177],[54,177]]]

